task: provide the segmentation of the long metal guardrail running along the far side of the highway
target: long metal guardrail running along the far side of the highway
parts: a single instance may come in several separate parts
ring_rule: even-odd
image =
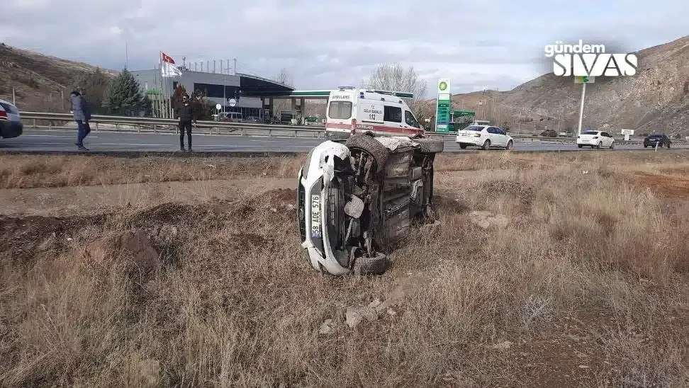
[[[71,113],[22,112],[24,127],[35,130],[74,130],[74,118]],[[165,118],[135,118],[127,116],[94,115],[91,118],[91,130],[108,132],[151,132],[176,133],[177,120]],[[41,122],[41,123],[39,123]],[[69,125],[67,125],[69,124]],[[234,135],[251,137],[306,137],[324,138],[325,127],[311,125],[277,125],[260,122],[223,122],[198,121],[196,132],[208,135]],[[207,132],[206,132],[207,131]],[[426,132],[427,137],[454,141],[456,132],[439,134]],[[513,135],[515,143],[524,144],[575,144],[576,137],[533,137]],[[642,145],[643,140],[615,139],[618,145]],[[674,140],[673,144],[689,147],[689,142]]]

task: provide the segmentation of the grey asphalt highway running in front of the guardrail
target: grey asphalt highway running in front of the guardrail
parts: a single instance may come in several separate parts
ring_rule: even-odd
[[[76,130],[25,130],[20,137],[0,139],[0,152],[77,152]],[[194,134],[194,151],[198,152],[308,152],[323,142],[308,137],[234,137]],[[186,144],[186,137],[184,139]],[[84,145],[94,152],[175,152],[179,135],[136,132],[91,132]],[[616,149],[639,149],[641,146],[616,146]],[[471,152],[476,147],[460,149],[459,144],[445,142],[445,152]],[[515,151],[579,151],[575,144],[516,143]],[[589,150],[589,148],[583,148]],[[498,151],[498,150],[496,150]],[[600,151],[607,151],[602,149]],[[498,151],[499,152],[499,151]]]

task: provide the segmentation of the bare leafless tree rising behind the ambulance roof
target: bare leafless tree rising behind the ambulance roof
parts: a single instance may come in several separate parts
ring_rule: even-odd
[[[401,64],[381,64],[371,73],[368,79],[362,81],[362,87],[385,91],[403,91],[413,93],[410,108],[415,115],[419,115],[422,99],[426,94],[426,81],[420,79],[414,67],[404,69]]]

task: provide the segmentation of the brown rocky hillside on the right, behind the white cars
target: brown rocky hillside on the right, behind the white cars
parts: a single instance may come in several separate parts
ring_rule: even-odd
[[[635,76],[597,78],[586,87],[583,124],[619,133],[642,132],[689,135],[689,36],[637,52]],[[483,91],[453,96],[454,109],[475,110],[500,125],[522,122],[535,132],[576,126],[581,85],[569,77],[545,74],[511,91]],[[482,105],[478,105],[483,101]],[[495,103],[493,103],[495,101]],[[430,112],[435,100],[429,101]],[[524,122],[527,123],[524,123]]]

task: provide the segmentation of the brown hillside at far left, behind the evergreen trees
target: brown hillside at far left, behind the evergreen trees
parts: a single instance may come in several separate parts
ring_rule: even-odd
[[[21,110],[60,112],[68,110],[74,81],[96,67],[0,44],[0,98]],[[102,69],[110,76],[116,72]],[[62,92],[62,93],[61,93]]]

